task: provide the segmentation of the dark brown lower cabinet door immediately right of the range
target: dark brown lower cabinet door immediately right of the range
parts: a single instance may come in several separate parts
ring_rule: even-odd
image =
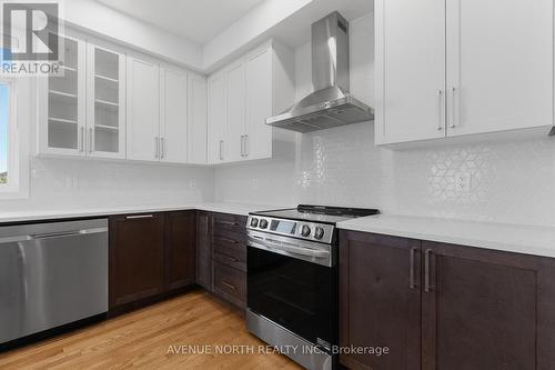
[[[381,357],[341,354],[340,362],[351,369],[420,369],[420,241],[341,231],[340,244],[340,346],[390,348]]]

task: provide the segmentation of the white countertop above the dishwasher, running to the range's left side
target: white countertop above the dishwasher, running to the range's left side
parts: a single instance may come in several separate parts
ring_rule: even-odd
[[[189,203],[172,206],[130,206],[130,207],[103,207],[103,208],[80,208],[63,210],[24,210],[24,211],[0,211],[0,223],[40,221],[56,219],[71,219],[81,217],[97,217],[109,214],[164,212],[199,209],[211,212],[222,212],[246,216],[249,212],[271,210],[282,207],[264,204],[242,204],[242,203]]]

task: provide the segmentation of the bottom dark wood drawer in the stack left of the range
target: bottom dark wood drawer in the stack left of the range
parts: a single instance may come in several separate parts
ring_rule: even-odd
[[[243,271],[214,261],[214,293],[239,306],[245,306],[246,274]]]

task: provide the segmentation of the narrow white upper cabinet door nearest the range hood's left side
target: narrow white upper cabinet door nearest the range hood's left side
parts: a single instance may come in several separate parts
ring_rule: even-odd
[[[272,128],[265,124],[272,116],[272,49],[264,48],[246,58],[246,133],[243,158],[272,157]]]

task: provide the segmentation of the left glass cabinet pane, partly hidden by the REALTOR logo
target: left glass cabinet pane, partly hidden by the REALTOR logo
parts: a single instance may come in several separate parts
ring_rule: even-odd
[[[78,149],[78,43],[64,40],[63,74],[48,79],[48,146]]]

